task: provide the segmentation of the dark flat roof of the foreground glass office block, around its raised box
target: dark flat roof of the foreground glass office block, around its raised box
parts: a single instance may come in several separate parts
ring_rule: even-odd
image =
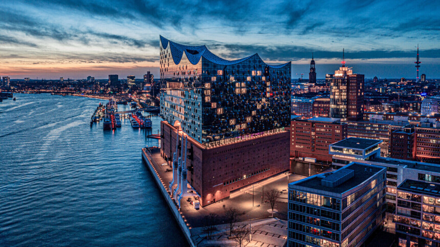
[[[365,168],[367,169],[366,171],[365,171]],[[335,187],[328,187],[328,186],[321,185],[321,180],[323,179],[323,177],[328,177],[333,174],[337,174],[338,172],[341,172],[343,169],[354,170],[353,178],[350,178],[347,181],[345,181],[342,184],[335,186]],[[370,171],[370,169],[371,169],[371,171]],[[294,185],[342,194],[343,192],[345,192],[347,190],[350,190],[350,189],[353,189],[353,188],[359,186],[360,184],[365,182],[367,179],[369,179],[371,176],[377,174],[377,172],[379,172],[382,169],[386,169],[386,168],[379,167],[376,165],[353,163],[351,165],[346,165],[342,168],[339,168],[339,170],[336,170],[333,172],[327,172],[325,174],[317,174],[312,177],[300,180],[297,183],[294,182]]]

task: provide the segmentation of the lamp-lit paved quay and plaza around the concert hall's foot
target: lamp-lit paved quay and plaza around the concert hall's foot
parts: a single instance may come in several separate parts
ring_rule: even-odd
[[[239,209],[241,213],[243,213],[239,218],[241,222],[237,223],[236,226],[244,224],[249,226],[251,224],[252,234],[268,235],[268,237],[262,237],[261,235],[259,238],[256,237],[256,235],[253,236],[251,241],[252,245],[258,242],[258,246],[282,246],[282,244],[279,245],[280,240],[282,240],[283,243],[286,241],[287,225],[285,228],[283,226],[286,224],[288,218],[288,180],[289,182],[293,182],[303,179],[304,177],[299,175],[290,175],[288,177],[287,174],[277,175],[234,191],[228,198],[219,200],[205,207],[200,207],[199,209],[194,209],[193,205],[187,201],[188,197],[184,197],[181,199],[181,207],[179,208],[168,187],[172,181],[172,172],[169,171],[171,167],[162,158],[159,147],[145,147],[142,149],[142,159],[155,179],[175,220],[191,246],[208,246],[208,243],[216,244],[217,246],[225,244],[235,246],[233,244],[234,240],[228,239],[229,230],[227,229],[228,224],[226,224],[225,212],[229,208]],[[282,191],[275,205],[273,218],[270,204],[265,202],[267,199],[262,196],[263,190],[271,188]],[[210,213],[215,213],[219,216],[218,226],[216,226],[217,232],[215,233],[216,239],[218,240],[217,242],[208,240],[206,234],[203,233],[203,219]],[[271,231],[278,233],[285,231],[285,235],[262,232],[258,230],[260,228],[262,228],[262,230],[272,229]],[[286,237],[284,238],[283,236]],[[259,241],[257,241],[257,239]]]

